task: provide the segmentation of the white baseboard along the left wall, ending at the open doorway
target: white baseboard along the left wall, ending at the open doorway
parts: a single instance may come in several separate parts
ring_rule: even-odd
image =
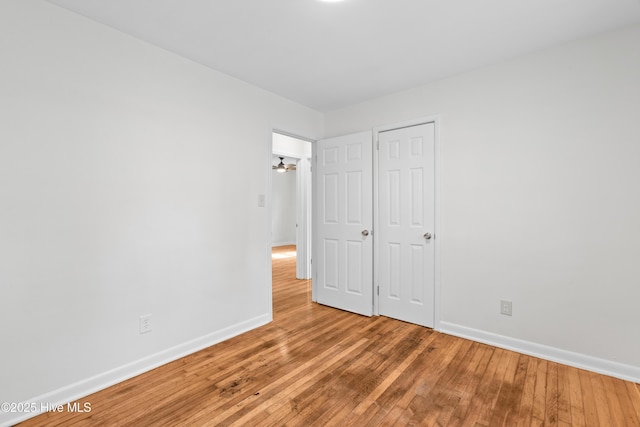
[[[220,331],[205,335],[200,338],[196,338],[184,344],[168,348],[159,353],[136,360],[132,363],[113,369],[111,371],[98,374],[91,378],[87,378],[86,380],[82,380],[58,390],[36,396],[32,399],[29,399],[29,403],[35,402],[34,407],[36,410],[34,412],[0,412],[0,427],[9,427],[16,423],[35,417],[41,414],[43,411],[46,411],[46,407],[57,407],[59,405],[66,405],[68,402],[82,399],[85,396],[103,390],[114,384],[118,384],[122,381],[128,380],[129,378],[133,378],[144,372],[150,371],[169,362],[173,362],[174,360],[180,359],[181,357],[195,353],[196,351],[202,350],[219,342],[225,341],[229,338],[233,338],[244,332],[263,326],[269,323],[271,320],[272,319],[270,314],[264,314],[262,316],[258,316],[245,322],[238,323]],[[44,410],[40,410],[42,406],[45,407]]]

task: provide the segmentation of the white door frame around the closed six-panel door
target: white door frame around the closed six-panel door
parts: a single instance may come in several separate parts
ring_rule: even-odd
[[[434,196],[435,196],[435,229],[433,232],[435,243],[435,260],[434,260],[434,295],[433,295],[433,329],[440,330],[440,241],[442,235],[440,233],[440,116],[426,116],[419,117],[412,120],[406,120],[403,122],[397,122],[389,125],[378,126],[373,128],[373,314],[380,315],[380,296],[377,289],[379,286],[379,255],[380,255],[380,242],[376,239],[376,230],[379,229],[379,141],[380,133],[388,132],[396,129],[402,129],[406,127],[419,126],[427,123],[433,123],[434,125]]]

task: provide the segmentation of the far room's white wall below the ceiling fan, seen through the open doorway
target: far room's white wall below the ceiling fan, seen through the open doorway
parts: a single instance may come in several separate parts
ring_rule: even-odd
[[[272,172],[271,241],[273,246],[296,243],[296,172]]]

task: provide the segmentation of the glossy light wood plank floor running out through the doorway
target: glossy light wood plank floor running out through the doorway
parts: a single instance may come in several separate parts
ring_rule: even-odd
[[[274,251],[274,321],[24,426],[640,426],[640,385],[311,303]]]

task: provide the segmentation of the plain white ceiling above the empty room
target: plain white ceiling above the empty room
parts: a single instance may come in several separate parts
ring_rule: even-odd
[[[640,0],[49,0],[327,112],[640,22]]]

